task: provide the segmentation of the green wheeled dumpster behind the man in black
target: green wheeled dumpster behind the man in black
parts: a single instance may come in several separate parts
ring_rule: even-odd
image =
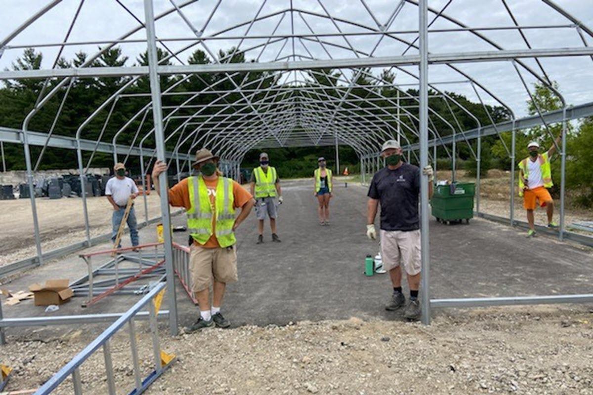
[[[436,185],[431,199],[432,215],[442,223],[463,220],[470,223],[474,216],[475,192],[473,182]]]

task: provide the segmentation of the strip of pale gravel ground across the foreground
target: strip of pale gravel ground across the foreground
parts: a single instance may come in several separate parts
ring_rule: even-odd
[[[431,326],[371,321],[298,322],[211,329],[168,338],[178,361],[148,394],[593,394],[593,309],[553,306],[449,310]],[[142,326],[144,328],[144,326]],[[139,336],[142,369],[151,345]],[[126,331],[112,342],[117,387],[133,387]],[[8,390],[39,386],[85,339],[82,330],[45,342],[9,339]],[[103,355],[81,370],[85,393],[103,394]],[[72,393],[71,382],[56,393]]]

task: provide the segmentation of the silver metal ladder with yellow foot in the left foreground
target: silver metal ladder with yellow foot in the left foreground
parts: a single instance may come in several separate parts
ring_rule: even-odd
[[[141,394],[148,388],[148,386],[154,382],[168,367],[176,361],[176,358],[172,358],[168,362],[162,361],[160,345],[158,342],[158,332],[156,325],[156,314],[154,300],[157,294],[164,290],[167,284],[160,282],[152,290],[146,294],[141,300],[138,301],[131,309],[127,310],[122,316],[120,316],[116,322],[111,324],[101,335],[99,335],[94,341],[87,345],[76,357],[72,358],[68,364],[62,367],[52,378],[46,381],[36,392],[35,395],[46,395],[51,393],[53,390],[58,388],[63,381],[72,375],[72,384],[74,384],[74,393],[82,394],[82,385],[80,377],[81,365],[93,355],[99,348],[103,348],[105,367],[107,375],[107,386],[109,393],[115,393],[115,381],[113,377],[113,364],[111,362],[111,351],[110,351],[110,339],[127,324],[130,335],[130,346],[132,351],[132,359],[134,365],[134,376],[135,376],[135,390],[133,394]],[[135,316],[138,315],[140,310],[144,309],[148,305],[149,308],[149,319],[151,321],[151,333],[152,333],[152,346],[154,348],[154,366],[155,369],[148,377],[144,380],[140,378],[140,366],[138,359],[138,350],[136,349],[136,329],[134,325]]]

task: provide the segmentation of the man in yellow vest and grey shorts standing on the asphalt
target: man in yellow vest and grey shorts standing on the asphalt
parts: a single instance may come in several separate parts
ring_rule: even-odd
[[[276,168],[270,166],[270,158],[267,153],[260,153],[260,166],[253,169],[250,182],[251,195],[256,197],[257,230],[259,232],[257,244],[263,243],[263,221],[266,219],[266,214],[270,217],[272,241],[279,243],[280,237],[276,233],[276,217],[278,216],[276,196],[278,196],[278,203],[282,204],[282,189]]]

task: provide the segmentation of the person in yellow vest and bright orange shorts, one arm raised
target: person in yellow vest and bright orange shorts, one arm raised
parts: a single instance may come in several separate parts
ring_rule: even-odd
[[[533,210],[539,201],[541,207],[546,207],[548,227],[556,229],[558,224],[552,220],[554,215],[554,200],[547,188],[551,188],[552,174],[550,158],[556,152],[556,145],[560,144],[562,134],[557,137],[556,144],[552,144],[547,152],[539,153],[540,144],[527,144],[529,156],[519,162],[519,196],[523,197],[523,207],[527,210],[529,230],[525,237],[535,236],[535,218]]]

